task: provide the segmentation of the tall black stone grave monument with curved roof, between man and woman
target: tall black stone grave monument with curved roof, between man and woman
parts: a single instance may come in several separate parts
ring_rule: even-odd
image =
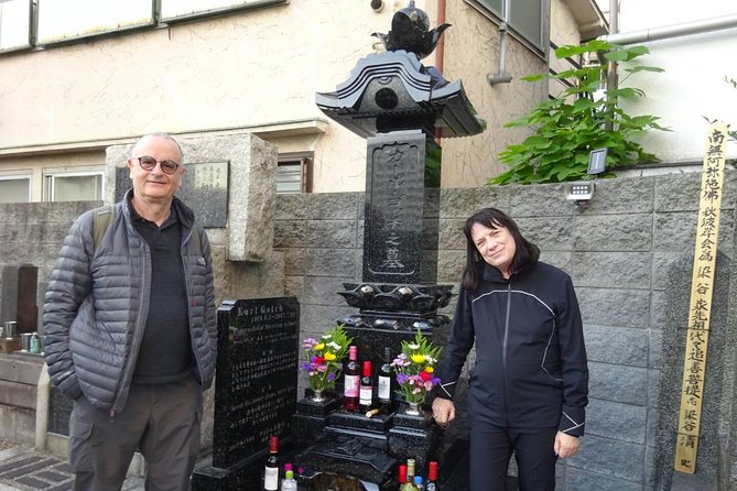
[[[460,81],[451,83],[420,62],[448,25],[431,30],[425,12],[410,2],[391,26],[388,34],[377,34],[387,52],[359,59],[336,91],[316,95],[328,117],[367,139],[364,281],[344,284],[339,293],[359,312],[338,324],[357,345],[359,359],[372,361],[375,374],[386,362],[384,348],[395,357],[402,340],[418,331],[432,338],[449,323],[437,313],[448,304],[452,286],[435,284],[437,222],[424,216],[437,209],[440,195],[425,189],[425,160],[436,149],[436,135],[484,130]],[[429,460],[442,461],[440,428],[422,413],[407,414],[405,403],[371,418],[338,406],[339,401],[329,400],[297,404],[297,437],[317,443],[294,461],[313,476],[390,490],[400,461],[414,458],[422,474]],[[328,489],[318,479],[308,489]]]

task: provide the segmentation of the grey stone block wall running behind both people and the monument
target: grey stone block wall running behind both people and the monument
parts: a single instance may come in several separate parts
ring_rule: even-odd
[[[457,284],[465,254],[460,227],[484,206],[508,211],[522,233],[540,246],[541,259],[573,277],[585,324],[590,404],[581,452],[560,465],[561,490],[664,490],[671,482],[673,489],[687,482],[689,476],[671,476],[670,470],[672,394],[681,386],[684,352],[678,335],[686,324],[685,314],[681,318],[685,307],[679,309],[672,299],[687,301],[683,290],[687,292],[691,275],[700,185],[700,174],[599,181],[583,209],[565,200],[563,185],[441,192],[438,283]],[[727,172],[719,233],[724,271],[715,288],[715,302],[724,308],[714,326],[720,330],[713,332],[706,371],[707,380],[718,377],[718,384],[709,386],[718,385],[720,393],[712,394],[707,386],[704,394],[704,434],[715,437],[701,443],[697,470],[705,472],[700,478],[719,479],[720,487],[695,488],[691,482],[680,489],[727,490],[735,472],[729,471],[735,468],[737,427],[735,336],[727,327],[736,325],[737,315],[731,261],[736,200],[737,173]],[[72,220],[97,205],[0,205],[0,264],[35,264],[44,284]],[[213,230],[215,250],[220,251],[218,301],[224,291],[241,297],[295,295],[302,337],[322,332],[355,313],[336,292],[343,282],[361,280],[362,220],[362,193],[279,196],[273,254],[282,258],[283,276],[280,269],[229,264],[223,250],[227,233]],[[253,287],[254,279],[268,284],[267,290]],[[249,286],[240,287],[240,282]],[[447,309],[452,312],[453,305]]]

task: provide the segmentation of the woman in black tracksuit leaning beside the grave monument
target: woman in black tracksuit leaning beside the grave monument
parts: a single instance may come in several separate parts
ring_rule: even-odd
[[[467,261],[453,330],[437,369],[433,417],[455,417],[452,399],[468,351],[473,491],[506,489],[512,452],[521,491],[555,489],[555,461],[578,450],[588,368],[571,277],[495,208],[468,218]]]

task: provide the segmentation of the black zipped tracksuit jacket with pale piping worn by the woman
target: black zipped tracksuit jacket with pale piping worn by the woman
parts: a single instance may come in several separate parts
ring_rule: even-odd
[[[458,294],[435,395],[453,399],[476,342],[468,413],[474,423],[584,433],[588,368],[571,277],[543,262],[505,280],[486,263],[473,293]]]

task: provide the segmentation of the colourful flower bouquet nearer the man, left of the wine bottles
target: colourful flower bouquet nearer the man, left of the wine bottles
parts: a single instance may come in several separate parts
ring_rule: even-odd
[[[323,402],[323,392],[335,388],[351,342],[343,325],[328,329],[319,339],[306,338],[302,341],[304,354],[300,370],[307,373],[313,401]]]

